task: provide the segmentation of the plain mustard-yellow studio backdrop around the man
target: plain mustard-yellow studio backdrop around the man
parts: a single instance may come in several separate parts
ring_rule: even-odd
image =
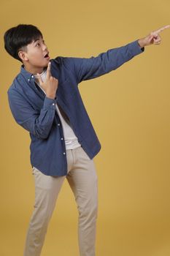
[[[3,35],[19,23],[44,34],[50,57],[90,57],[169,24],[169,0],[1,0],[1,256],[23,255],[34,206],[28,132],[15,123],[7,89],[21,63]],[[101,141],[96,256],[170,255],[170,29],[115,71],[80,83]],[[78,256],[77,208],[65,182],[42,256]]]

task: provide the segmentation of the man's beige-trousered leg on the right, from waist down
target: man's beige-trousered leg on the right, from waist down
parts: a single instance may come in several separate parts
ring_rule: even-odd
[[[95,256],[98,185],[96,168],[82,147],[72,149],[73,166],[66,176],[79,211],[80,256]]]

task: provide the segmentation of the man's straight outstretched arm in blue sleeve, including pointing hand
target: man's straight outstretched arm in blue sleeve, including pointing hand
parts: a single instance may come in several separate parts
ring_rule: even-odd
[[[161,43],[159,33],[164,29],[170,28],[170,25],[164,26],[161,29],[152,31],[147,37],[136,39],[127,45],[119,48],[112,48],[107,52],[100,53],[96,57],[76,58],[63,57],[63,62],[74,73],[77,83],[82,80],[98,78],[112,70],[117,69],[125,62],[144,52],[144,47],[147,45],[158,45]]]

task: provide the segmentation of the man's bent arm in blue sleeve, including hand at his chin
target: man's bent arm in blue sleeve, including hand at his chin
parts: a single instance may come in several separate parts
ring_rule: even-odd
[[[55,116],[55,94],[58,89],[58,79],[52,77],[50,66],[49,62],[45,82],[42,82],[40,76],[38,78],[40,85],[46,92],[44,105],[40,111],[34,110],[27,99],[16,89],[7,91],[9,107],[15,121],[39,139],[47,138]]]

